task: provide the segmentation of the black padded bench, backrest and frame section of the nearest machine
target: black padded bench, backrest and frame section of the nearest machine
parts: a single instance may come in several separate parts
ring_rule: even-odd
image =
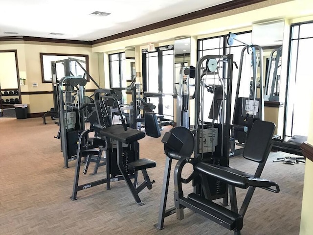
[[[199,158],[183,157],[174,151],[171,155],[178,155],[179,158],[174,170],[174,201],[177,218],[182,220],[184,218],[183,209],[189,208],[224,228],[234,231],[235,235],[240,235],[244,225],[243,219],[255,188],[263,188],[275,193],[278,193],[280,190],[275,182],[260,178],[272,146],[274,130],[275,124],[272,122],[256,120],[253,123],[246,141],[243,157],[248,161],[259,163],[254,175],[230,168],[229,166],[206,163]],[[192,164],[193,172],[187,179],[184,179],[181,173],[186,164]],[[226,184],[229,188],[231,209],[227,209],[220,203],[213,201],[205,193],[202,195],[194,191],[184,196],[182,184],[187,184],[192,179],[195,181],[196,177],[201,179],[201,187],[203,188],[209,186],[210,181],[206,180],[207,178]],[[248,188],[246,197],[239,210],[236,188]]]

